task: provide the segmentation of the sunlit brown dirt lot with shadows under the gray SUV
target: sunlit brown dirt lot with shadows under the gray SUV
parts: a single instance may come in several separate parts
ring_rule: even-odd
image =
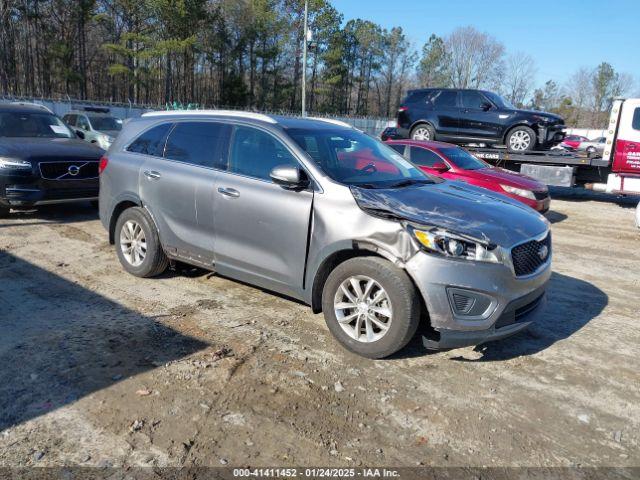
[[[0,220],[0,466],[640,466],[640,231],[554,200],[548,315],[476,348],[343,350],[201,270],[126,274],[96,212]]]

